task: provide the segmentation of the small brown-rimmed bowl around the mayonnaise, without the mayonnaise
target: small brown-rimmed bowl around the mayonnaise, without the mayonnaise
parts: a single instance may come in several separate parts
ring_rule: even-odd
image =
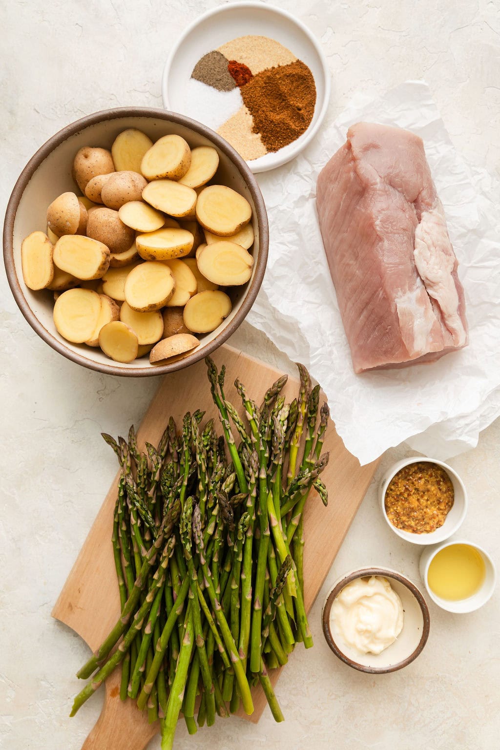
[[[388,646],[382,653],[361,655],[343,643],[340,638],[335,639],[330,623],[331,605],[344,586],[352,580],[372,575],[387,578],[394,591],[400,596],[403,604],[403,629],[394,643],[391,643],[391,646]],[[409,578],[391,568],[361,568],[337,579],[326,598],[322,624],[328,646],[344,664],[360,672],[385,674],[403,669],[415,661],[422,652],[429,637],[430,616],[424,596]]]

